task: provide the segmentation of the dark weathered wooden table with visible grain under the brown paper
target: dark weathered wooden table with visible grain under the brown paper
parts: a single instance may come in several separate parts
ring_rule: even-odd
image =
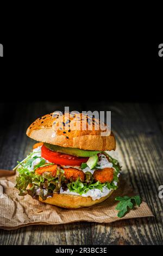
[[[108,110],[117,139],[123,173],[155,217],[111,224],[78,222],[0,230],[1,245],[160,245],[163,242],[163,106],[139,103],[36,102],[1,104],[0,168],[11,169],[29,153],[33,141],[26,129],[37,117],[64,110]]]

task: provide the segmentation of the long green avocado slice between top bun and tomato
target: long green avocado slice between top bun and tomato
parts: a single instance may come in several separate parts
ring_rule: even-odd
[[[52,151],[56,151],[59,153],[72,155],[72,156],[90,157],[90,156],[97,155],[98,153],[101,153],[101,151],[83,150],[83,149],[76,149],[76,148],[64,148],[64,147],[52,145],[49,143],[44,143],[44,145],[46,148]]]

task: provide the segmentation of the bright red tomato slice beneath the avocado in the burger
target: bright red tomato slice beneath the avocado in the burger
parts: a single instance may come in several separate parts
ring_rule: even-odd
[[[43,145],[41,148],[41,156],[51,163],[57,163],[63,166],[81,166],[82,163],[87,162],[89,159],[89,157],[78,157],[61,154],[47,149],[45,145]]]

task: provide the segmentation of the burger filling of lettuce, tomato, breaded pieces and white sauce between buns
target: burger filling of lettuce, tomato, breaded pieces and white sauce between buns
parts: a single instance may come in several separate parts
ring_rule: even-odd
[[[73,155],[68,155],[60,153],[64,148],[55,146],[57,151],[54,151],[51,146],[36,143],[32,153],[18,162],[15,187],[20,196],[29,194],[35,199],[46,200],[60,193],[96,200],[117,189],[121,167],[105,151],[80,150],[80,155],[91,155],[83,157],[77,156],[79,149],[73,149]]]

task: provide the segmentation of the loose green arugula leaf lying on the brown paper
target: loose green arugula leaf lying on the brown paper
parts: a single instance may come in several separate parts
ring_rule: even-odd
[[[118,217],[122,218],[124,215],[127,214],[128,209],[133,209],[135,205],[140,206],[142,200],[140,196],[134,196],[134,197],[116,197],[115,200],[120,201],[120,203],[117,204],[116,210],[119,210]]]

